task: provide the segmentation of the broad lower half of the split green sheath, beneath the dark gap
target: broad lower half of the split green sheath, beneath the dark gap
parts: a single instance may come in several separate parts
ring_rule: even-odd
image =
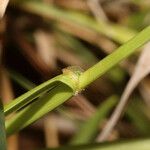
[[[73,94],[74,93],[69,86],[61,83],[43,97],[39,98],[39,100],[18,112],[12,119],[6,121],[7,136],[18,132],[41,118],[49,111],[64,103],[72,97]]]

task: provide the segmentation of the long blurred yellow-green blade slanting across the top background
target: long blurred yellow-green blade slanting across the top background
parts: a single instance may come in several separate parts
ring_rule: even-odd
[[[21,8],[28,12],[37,14],[57,21],[67,21],[76,23],[85,28],[90,28],[100,34],[103,34],[119,43],[124,43],[132,38],[136,32],[126,27],[117,24],[97,22],[88,15],[73,11],[64,11],[52,5],[47,5],[42,2],[28,1],[20,4]]]

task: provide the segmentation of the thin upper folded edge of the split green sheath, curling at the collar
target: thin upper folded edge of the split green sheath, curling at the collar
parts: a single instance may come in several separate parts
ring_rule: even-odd
[[[70,80],[69,78],[70,77],[62,74],[26,92],[25,94],[21,95],[20,97],[16,98],[11,103],[5,106],[4,108],[5,115],[9,115],[10,113],[21,109],[23,106],[27,105],[32,100],[39,97],[41,94],[59,86],[61,82],[70,86],[70,88],[74,91],[76,89],[73,85],[74,81]]]

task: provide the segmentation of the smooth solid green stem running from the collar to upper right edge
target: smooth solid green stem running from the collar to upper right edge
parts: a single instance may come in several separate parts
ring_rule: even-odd
[[[95,81],[106,71],[127,58],[135,50],[150,40],[150,26],[145,28],[126,44],[119,47],[115,52],[104,58],[102,61],[85,71],[79,78],[79,89],[82,90]]]

